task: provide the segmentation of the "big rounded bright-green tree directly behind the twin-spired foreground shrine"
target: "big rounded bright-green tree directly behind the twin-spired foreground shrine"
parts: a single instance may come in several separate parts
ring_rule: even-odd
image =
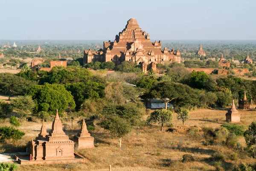
[[[76,107],[71,92],[61,84],[35,85],[30,87],[26,94],[32,96],[35,101],[35,113],[46,111],[53,114],[57,109],[62,112],[68,106],[71,109]]]

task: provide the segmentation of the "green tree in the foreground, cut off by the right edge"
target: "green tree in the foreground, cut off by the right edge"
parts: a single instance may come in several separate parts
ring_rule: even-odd
[[[244,139],[248,147],[253,146],[254,157],[256,158],[256,122],[253,121],[244,132]]]

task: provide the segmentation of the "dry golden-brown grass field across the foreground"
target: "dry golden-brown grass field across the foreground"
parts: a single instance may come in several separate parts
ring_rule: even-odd
[[[247,127],[256,118],[256,111],[239,110],[239,112],[241,113],[239,125]],[[190,113],[190,119],[185,125],[220,128],[220,125],[225,123],[225,113],[226,110],[198,109]],[[70,130],[70,122],[63,121],[63,123],[69,125],[70,137],[79,131],[76,122],[73,134]],[[172,123],[174,127],[182,125],[181,121],[177,121],[176,114]],[[52,122],[46,123],[48,131],[51,129],[51,124]],[[6,121],[2,125],[9,123]],[[25,150],[26,143],[38,135],[40,128],[40,121],[23,122],[19,129],[26,132],[26,135],[15,144],[0,146],[0,153]],[[244,155],[241,150],[228,148],[222,144],[204,145],[206,139],[203,131],[170,133],[161,132],[159,125],[145,126],[136,128],[125,136],[122,140],[122,148],[118,147],[118,139],[111,137],[108,131],[98,126],[92,132],[92,136],[95,138],[95,148],[77,151],[87,159],[85,163],[20,165],[20,171],[107,171],[110,164],[113,171],[215,171],[216,162],[212,159],[212,155],[216,152],[226,156],[225,161],[219,163],[224,170],[231,170],[233,165],[242,162],[250,165],[256,163],[256,159]],[[242,136],[239,137],[239,142],[242,147],[246,146]],[[232,160],[229,156],[234,153],[238,157]],[[195,161],[182,162],[184,154],[191,154]]]

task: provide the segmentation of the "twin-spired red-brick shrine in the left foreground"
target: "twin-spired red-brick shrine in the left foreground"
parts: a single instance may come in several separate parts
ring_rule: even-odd
[[[29,142],[30,160],[74,159],[74,142],[62,130],[62,123],[56,112],[52,130],[47,134],[44,125],[35,140]]]

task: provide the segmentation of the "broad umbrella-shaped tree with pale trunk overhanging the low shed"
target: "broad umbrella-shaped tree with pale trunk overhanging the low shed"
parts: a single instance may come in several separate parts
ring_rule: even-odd
[[[148,92],[141,96],[143,99],[162,99],[167,104],[173,102],[176,107],[198,105],[198,95],[191,87],[171,81],[155,84]]]

